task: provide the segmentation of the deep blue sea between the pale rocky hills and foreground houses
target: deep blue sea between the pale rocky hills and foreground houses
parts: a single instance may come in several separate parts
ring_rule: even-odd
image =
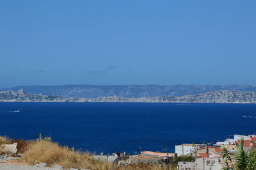
[[[42,133],[97,153],[173,152],[175,144],[255,132],[256,104],[0,103],[0,135]]]

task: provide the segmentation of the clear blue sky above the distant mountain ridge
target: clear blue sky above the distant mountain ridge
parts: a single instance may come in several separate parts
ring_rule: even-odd
[[[0,1],[0,87],[256,85],[256,1]]]

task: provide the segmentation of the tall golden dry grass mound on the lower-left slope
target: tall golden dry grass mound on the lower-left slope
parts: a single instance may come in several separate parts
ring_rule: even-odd
[[[112,164],[94,160],[88,153],[70,150],[51,141],[35,141],[24,152],[30,164],[45,162],[48,165],[60,165],[64,168],[111,169]]]

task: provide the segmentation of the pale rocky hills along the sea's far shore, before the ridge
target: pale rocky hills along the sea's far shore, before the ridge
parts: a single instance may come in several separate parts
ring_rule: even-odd
[[[63,98],[42,94],[26,93],[23,90],[0,91],[0,102],[172,102],[172,103],[246,103],[256,104],[256,93],[248,91],[210,91],[182,97],[97,97]]]

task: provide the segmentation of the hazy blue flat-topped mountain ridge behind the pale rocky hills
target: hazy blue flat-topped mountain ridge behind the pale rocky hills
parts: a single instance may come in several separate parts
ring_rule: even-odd
[[[42,93],[63,98],[97,98],[97,97],[181,97],[184,95],[197,95],[209,91],[238,90],[256,92],[256,86],[227,85],[227,86],[204,86],[204,85],[127,85],[127,86],[94,86],[94,85],[64,85],[64,86],[17,86],[4,88],[0,91],[18,91],[23,89],[28,93]]]

